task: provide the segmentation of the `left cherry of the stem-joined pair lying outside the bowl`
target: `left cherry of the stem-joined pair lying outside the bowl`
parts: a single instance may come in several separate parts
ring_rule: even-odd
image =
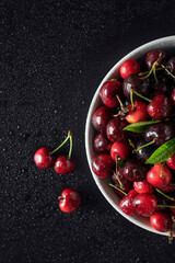
[[[42,147],[34,155],[34,162],[39,169],[54,167],[55,159],[49,155],[50,150],[47,147]]]

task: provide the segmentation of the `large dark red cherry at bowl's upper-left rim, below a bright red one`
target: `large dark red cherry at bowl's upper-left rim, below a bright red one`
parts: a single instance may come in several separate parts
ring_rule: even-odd
[[[119,102],[116,95],[118,95],[119,99],[122,100],[122,84],[116,80],[108,80],[104,82],[100,90],[100,96],[103,103],[108,107],[119,106]]]

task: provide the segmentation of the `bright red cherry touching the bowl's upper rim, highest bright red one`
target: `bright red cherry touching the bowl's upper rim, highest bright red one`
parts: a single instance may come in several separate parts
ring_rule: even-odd
[[[127,59],[119,69],[122,79],[126,79],[129,75],[137,75],[140,72],[140,65],[135,59]]]

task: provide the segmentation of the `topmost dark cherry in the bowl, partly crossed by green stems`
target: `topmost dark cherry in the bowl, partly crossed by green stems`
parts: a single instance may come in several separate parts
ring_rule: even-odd
[[[159,59],[160,55],[162,53],[162,64],[166,61],[166,54],[163,50],[151,50],[147,54],[144,58],[144,64],[148,70],[150,70],[153,66],[153,64]]]

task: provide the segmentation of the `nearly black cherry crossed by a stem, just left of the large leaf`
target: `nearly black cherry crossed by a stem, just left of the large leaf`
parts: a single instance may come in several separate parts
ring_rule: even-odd
[[[136,145],[136,149],[137,149],[136,153],[137,153],[138,158],[143,161],[147,161],[149,159],[149,157],[152,155],[152,152],[156,149],[156,147],[153,145],[141,148],[142,146],[145,146],[145,145],[147,145],[145,139],[140,139]]]

